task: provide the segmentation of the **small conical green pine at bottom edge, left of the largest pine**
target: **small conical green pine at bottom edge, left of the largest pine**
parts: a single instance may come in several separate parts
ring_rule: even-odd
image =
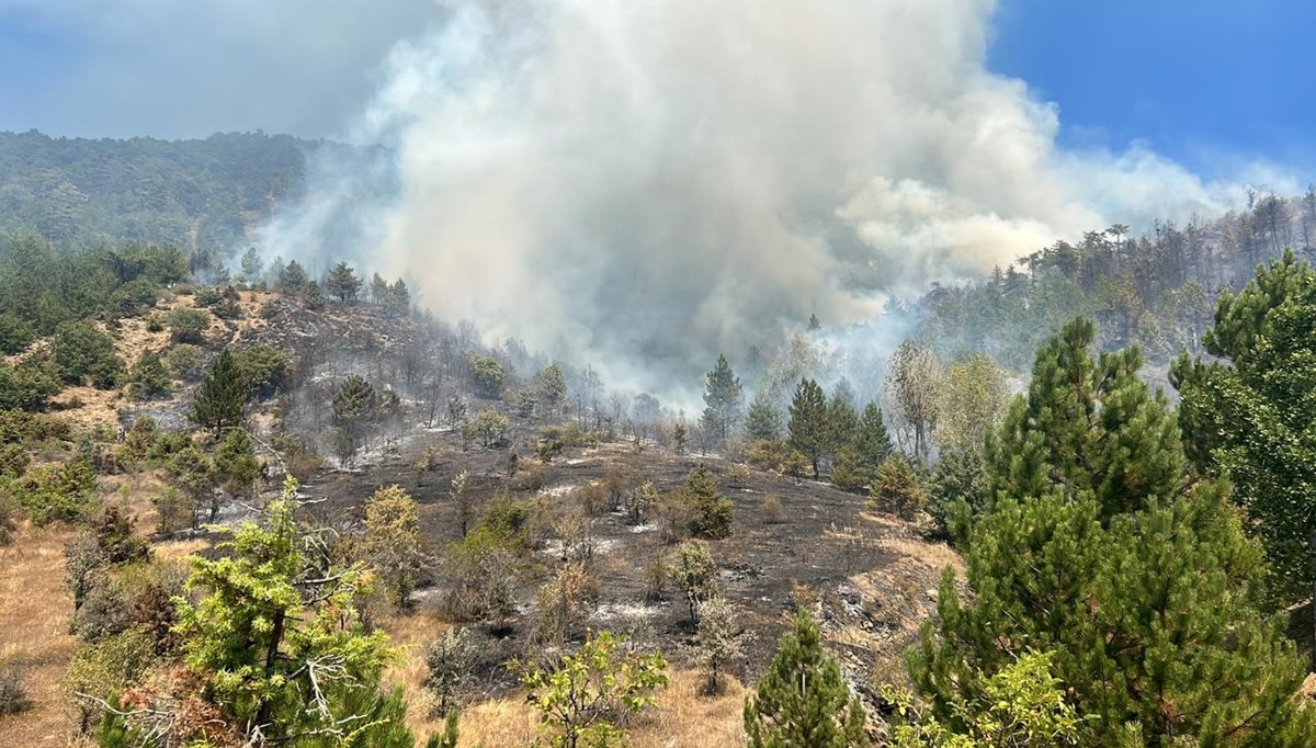
[[[866,745],[863,706],[836,657],[822,651],[822,632],[804,611],[782,637],[772,664],[745,699],[750,748],[853,748]]]

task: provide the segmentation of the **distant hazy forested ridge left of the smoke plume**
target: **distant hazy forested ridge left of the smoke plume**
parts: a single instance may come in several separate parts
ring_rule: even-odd
[[[0,132],[0,233],[62,249],[139,241],[222,252],[303,195],[322,149],[372,153],[262,132],[190,141]]]

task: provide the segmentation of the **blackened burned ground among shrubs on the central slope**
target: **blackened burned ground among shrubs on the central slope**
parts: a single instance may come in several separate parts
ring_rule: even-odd
[[[528,433],[522,424],[520,433]],[[521,442],[520,453],[529,452]],[[413,464],[437,448],[434,471],[418,473]],[[751,471],[741,485],[719,457],[675,456],[658,448],[637,452],[633,445],[604,444],[569,450],[551,464],[520,460],[517,479],[507,478],[507,449],[463,450],[450,432],[434,432],[378,465],[354,471],[324,471],[303,486],[316,502],[311,511],[330,524],[359,521],[366,496],[384,485],[397,483],[421,507],[426,539],[436,549],[461,536],[457,507],[449,493],[451,478],[466,471],[468,491],[479,504],[511,493],[540,508],[575,502],[572,490],[599,483],[616,474],[642,475],[659,491],[679,487],[690,470],[703,462],[719,477],[722,491],[736,504],[732,536],[709,541],[717,562],[721,594],[738,611],[747,637],[746,661],[740,676],[753,681],[775,651],[776,639],[790,626],[791,611],[808,606],[824,626],[832,648],[842,656],[846,670],[862,690],[874,678],[901,678],[903,652],[915,641],[919,624],[936,607],[936,589],[942,569],[958,565],[944,544],[923,537],[919,528],[865,511],[863,496],[813,481],[796,481],[772,473]],[[526,474],[530,473],[529,479]],[[516,490],[530,483],[536,490]],[[542,486],[540,486],[542,483]],[[780,499],[783,512],[771,521],[761,503]],[[663,649],[682,665],[694,660],[695,633],[679,591],[650,599],[645,569],[666,561],[675,545],[666,543],[653,524],[634,525],[624,512],[594,518],[594,566],[601,581],[601,597],[588,626],[621,631],[647,645]],[[541,539],[537,569],[525,574],[519,593],[519,614],[496,632],[474,626],[480,641],[480,686],[488,695],[515,687],[505,660],[532,649],[534,589],[547,568],[559,561],[553,539]],[[442,564],[413,597],[416,614],[437,604],[443,594]],[[437,635],[437,633],[436,633]]]

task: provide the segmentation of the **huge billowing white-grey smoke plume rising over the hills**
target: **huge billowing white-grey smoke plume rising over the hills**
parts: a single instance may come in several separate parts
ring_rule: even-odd
[[[697,383],[812,313],[880,329],[891,295],[1244,188],[1058,146],[1057,108],[986,68],[992,0],[440,7],[351,133],[400,180],[362,254],[441,317],[609,383]],[[313,187],[321,215],[350,207],[336,190]],[[268,254],[322,245],[305,219]]]

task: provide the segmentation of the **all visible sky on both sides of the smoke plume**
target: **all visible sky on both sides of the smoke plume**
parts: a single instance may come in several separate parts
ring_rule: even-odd
[[[428,0],[0,0],[0,129],[334,136],[437,18]],[[999,0],[988,68],[1057,103],[1069,146],[1142,141],[1205,175],[1311,165],[1313,32],[1305,0]]]

